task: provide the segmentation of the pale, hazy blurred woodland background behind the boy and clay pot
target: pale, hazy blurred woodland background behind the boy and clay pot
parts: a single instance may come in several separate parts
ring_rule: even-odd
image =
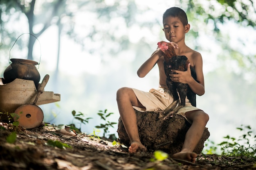
[[[197,107],[210,116],[209,140],[239,135],[242,124],[255,135],[255,0],[0,0],[0,77],[9,57],[40,62],[41,79],[50,75],[45,91],[61,94],[60,102],[39,106],[44,122],[92,133],[105,123],[100,110],[118,122],[120,87],[158,86],[157,67],[144,78],[137,69],[166,40],[162,15],[170,7],[186,11],[186,44],[202,54],[206,92]],[[16,41],[22,33],[39,41],[29,34]],[[92,119],[81,124],[73,110]],[[113,126],[108,134],[117,136]]]

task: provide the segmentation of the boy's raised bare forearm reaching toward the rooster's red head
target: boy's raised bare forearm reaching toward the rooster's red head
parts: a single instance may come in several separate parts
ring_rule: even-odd
[[[159,58],[162,56],[161,50],[156,50],[138,69],[137,74],[139,77],[144,77],[155,66]]]

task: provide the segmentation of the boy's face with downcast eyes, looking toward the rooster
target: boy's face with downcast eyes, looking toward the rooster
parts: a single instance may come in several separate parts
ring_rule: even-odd
[[[189,32],[190,25],[183,26],[178,17],[166,17],[163,20],[163,31],[166,39],[170,42],[178,43],[185,39],[185,33]]]

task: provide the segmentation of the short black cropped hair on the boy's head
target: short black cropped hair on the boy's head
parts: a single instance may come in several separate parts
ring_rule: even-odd
[[[183,11],[182,9],[180,9],[178,7],[171,7],[169,9],[167,9],[163,15],[163,21],[166,17],[169,17],[169,16],[178,17],[184,26],[186,24],[188,24],[188,18],[186,16],[185,11]]]

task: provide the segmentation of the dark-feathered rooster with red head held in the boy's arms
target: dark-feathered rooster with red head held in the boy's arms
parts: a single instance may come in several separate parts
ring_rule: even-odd
[[[171,80],[171,76],[169,74],[175,74],[175,72],[171,72],[171,70],[180,70],[180,71],[186,71],[189,59],[182,55],[178,56],[175,54],[173,46],[171,46],[170,43],[167,43],[165,41],[160,41],[157,43],[158,49],[161,50],[164,53],[164,72],[167,76],[166,78],[166,85],[168,89],[170,90],[171,94],[173,95],[173,102],[170,106],[168,106],[164,112],[169,113],[165,118],[174,115],[177,113],[177,111],[185,106],[185,100],[186,96],[191,102],[192,106],[196,106],[195,101],[195,93],[190,89],[189,85],[174,82]],[[196,73],[193,66],[190,65],[191,70],[191,76],[196,80]],[[180,95],[178,95],[178,93]],[[180,101],[179,101],[180,99]],[[177,104],[180,104],[177,106]]]

